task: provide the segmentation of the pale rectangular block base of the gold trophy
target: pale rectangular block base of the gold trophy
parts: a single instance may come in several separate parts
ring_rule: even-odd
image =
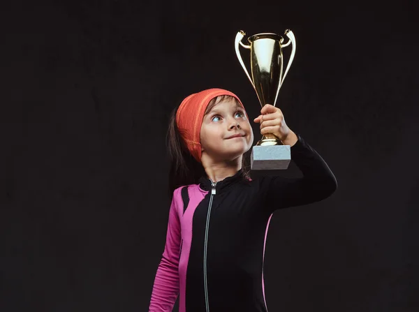
[[[255,145],[251,150],[251,170],[283,170],[288,169],[291,161],[290,145]]]

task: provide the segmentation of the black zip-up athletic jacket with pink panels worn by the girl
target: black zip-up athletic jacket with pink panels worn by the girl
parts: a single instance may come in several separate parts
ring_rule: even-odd
[[[249,180],[243,171],[173,193],[166,246],[149,311],[266,312],[263,262],[267,228],[277,209],[328,198],[337,180],[323,158],[297,135],[291,160],[303,177]]]

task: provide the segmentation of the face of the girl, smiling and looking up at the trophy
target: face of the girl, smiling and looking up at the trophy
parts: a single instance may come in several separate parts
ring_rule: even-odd
[[[203,153],[213,161],[232,161],[242,156],[253,144],[253,131],[244,108],[233,99],[214,105],[204,116],[200,143]]]

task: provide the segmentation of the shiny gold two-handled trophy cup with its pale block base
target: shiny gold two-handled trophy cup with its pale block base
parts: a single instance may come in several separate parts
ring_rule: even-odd
[[[242,64],[244,73],[249,78],[253,89],[255,89],[260,105],[274,105],[277,102],[279,89],[293,63],[295,55],[295,37],[290,29],[285,31],[288,42],[284,44],[284,38],[278,34],[263,33],[249,37],[250,45],[242,43],[244,31],[239,31],[235,38],[235,51],[237,58]],[[291,55],[284,71],[284,56],[282,48],[292,46]],[[244,66],[240,55],[240,45],[250,50],[251,76]],[[291,147],[282,144],[281,140],[272,133],[262,136],[262,139],[251,151],[252,170],[278,170],[287,169],[291,161]]]

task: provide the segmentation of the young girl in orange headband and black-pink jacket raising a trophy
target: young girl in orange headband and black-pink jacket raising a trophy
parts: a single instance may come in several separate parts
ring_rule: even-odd
[[[334,174],[279,108],[265,105],[253,121],[291,145],[303,177],[250,179],[243,154],[253,132],[240,99],[230,91],[191,94],[172,114],[168,131],[170,193],[166,246],[149,311],[267,311],[263,262],[267,228],[277,209],[328,198]]]

